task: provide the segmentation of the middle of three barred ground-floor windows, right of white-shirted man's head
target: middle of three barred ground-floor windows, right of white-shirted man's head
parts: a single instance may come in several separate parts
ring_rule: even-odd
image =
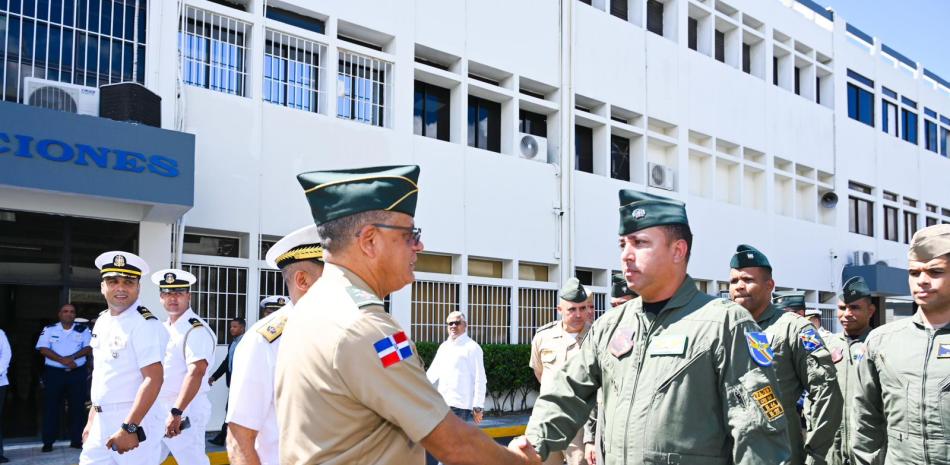
[[[511,342],[511,288],[468,285],[468,333],[479,344]]]

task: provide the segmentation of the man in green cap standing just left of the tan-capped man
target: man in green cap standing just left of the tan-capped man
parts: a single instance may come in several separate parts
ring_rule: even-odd
[[[871,300],[871,290],[864,278],[855,276],[844,283],[838,298],[838,321],[844,332],[825,340],[831,351],[831,361],[838,372],[838,388],[844,398],[841,427],[835,433],[835,442],[828,453],[832,465],[852,465],[854,460],[854,396],[857,393],[857,367],[864,360],[864,341],[871,331],[871,317],[877,307]]]

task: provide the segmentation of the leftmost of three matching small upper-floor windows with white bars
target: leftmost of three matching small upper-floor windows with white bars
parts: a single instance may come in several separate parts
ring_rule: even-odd
[[[246,95],[250,29],[244,21],[186,6],[178,30],[182,80],[225,94]]]

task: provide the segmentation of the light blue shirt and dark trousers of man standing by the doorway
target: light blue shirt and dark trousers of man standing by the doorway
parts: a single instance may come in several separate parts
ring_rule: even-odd
[[[89,347],[92,331],[85,325],[74,323],[69,329],[61,323],[43,328],[36,349],[49,349],[59,356],[73,355]],[[45,358],[43,371],[45,387],[43,400],[43,444],[50,445],[59,435],[59,417],[66,400],[69,414],[69,441],[72,445],[82,444],[82,429],[86,421],[86,357],[75,359],[76,367],[69,368],[49,358]]]

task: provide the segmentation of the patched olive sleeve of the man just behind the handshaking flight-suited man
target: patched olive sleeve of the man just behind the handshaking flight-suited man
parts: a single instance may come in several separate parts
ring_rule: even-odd
[[[824,464],[828,450],[834,444],[835,432],[841,425],[843,398],[838,388],[838,376],[835,364],[831,361],[831,352],[824,341],[814,350],[806,350],[801,335],[814,327],[807,325],[799,330],[792,344],[792,359],[798,379],[805,383],[809,400],[809,430],[805,432],[806,463]]]

